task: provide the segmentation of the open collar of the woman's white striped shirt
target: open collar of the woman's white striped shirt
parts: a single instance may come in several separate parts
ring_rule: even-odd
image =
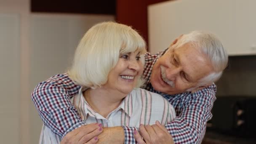
[[[83,91],[86,91],[87,89],[88,88],[81,87],[80,90],[79,90],[79,93],[78,93],[77,100],[74,101],[75,107],[78,109],[78,111],[83,112],[85,114],[86,118],[88,117],[88,115],[90,115],[91,117],[96,117],[97,119],[106,119],[106,118],[108,119],[109,116],[113,112],[117,112],[119,110],[123,110],[129,117],[131,117],[132,111],[133,111],[133,103],[132,103],[132,100],[131,100],[132,93],[129,93],[128,96],[126,96],[123,99],[121,104],[115,110],[110,112],[109,115],[106,118],[104,118],[99,113],[97,113],[95,110],[93,110],[92,107],[85,100],[85,98],[83,96]]]

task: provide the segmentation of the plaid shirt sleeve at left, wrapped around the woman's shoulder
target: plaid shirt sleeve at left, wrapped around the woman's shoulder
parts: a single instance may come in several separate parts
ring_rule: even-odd
[[[61,137],[86,125],[69,100],[79,89],[67,74],[59,74],[39,83],[32,92],[32,101],[43,123]]]

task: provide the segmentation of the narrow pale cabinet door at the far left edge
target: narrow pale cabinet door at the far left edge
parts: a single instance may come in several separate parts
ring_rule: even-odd
[[[19,143],[20,17],[0,14],[0,143]]]

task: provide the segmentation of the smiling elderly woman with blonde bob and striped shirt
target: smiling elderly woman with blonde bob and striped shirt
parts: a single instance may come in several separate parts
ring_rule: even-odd
[[[96,24],[80,41],[69,77],[81,85],[71,101],[87,123],[103,127],[139,127],[175,118],[162,96],[139,88],[143,84],[143,38],[131,27],[115,22]],[[58,144],[61,138],[43,125],[40,144]]]

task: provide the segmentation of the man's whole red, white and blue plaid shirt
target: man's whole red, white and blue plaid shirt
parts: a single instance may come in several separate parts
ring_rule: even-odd
[[[165,125],[175,144],[199,144],[205,134],[206,123],[212,117],[211,109],[216,99],[216,85],[213,84],[195,93],[186,92],[176,95],[155,91],[149,82],[151,71],[156,60],[163,53],[145,54],[143,88],[159,93],[175,108],[175,120]],[[78,93],[79,89],[80,86],[75,85],[67,74],[59,74],[39,83],[32,93],[32,101],[44,124],[59,136],[65,136],[75,128],[86,125],[69,100]],[[133,131],[138,128],[127,126],[123,128],[125,144],[136,143]]]

